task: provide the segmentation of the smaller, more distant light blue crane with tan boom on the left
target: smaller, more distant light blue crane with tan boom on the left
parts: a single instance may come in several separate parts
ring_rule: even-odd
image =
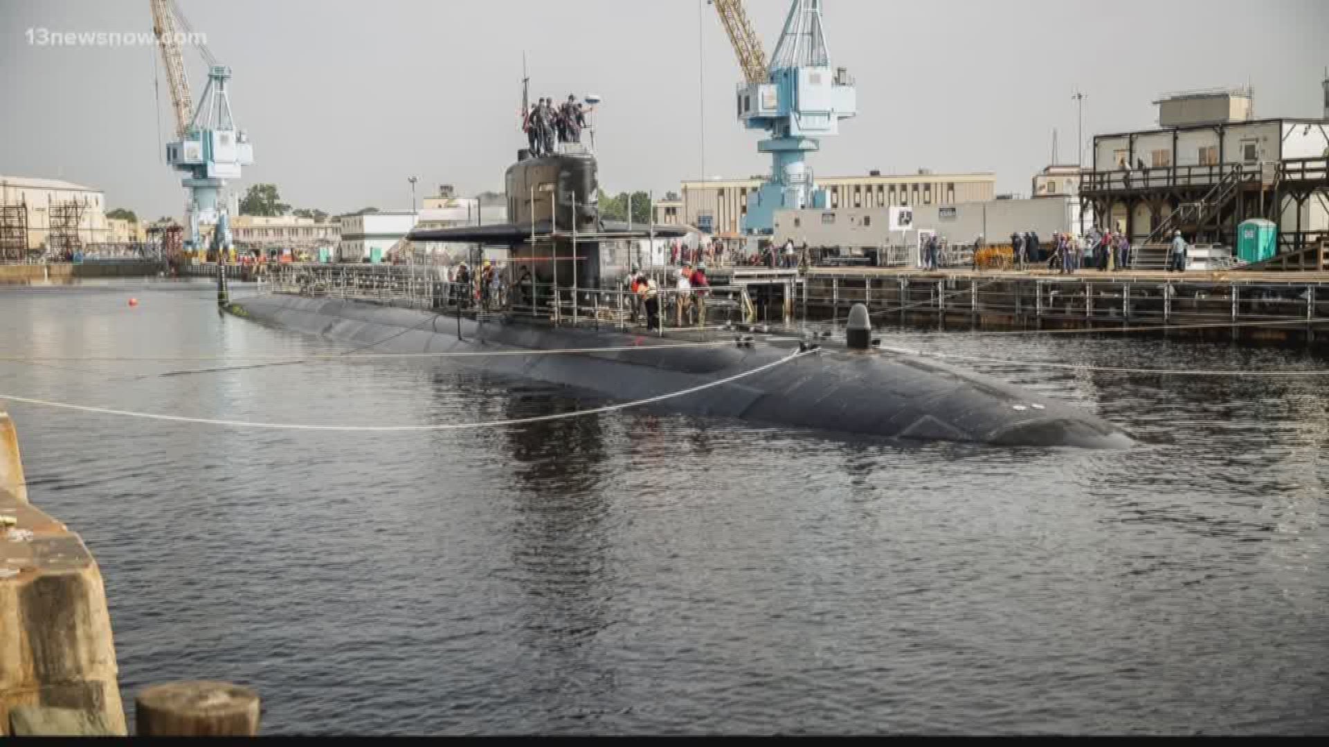
[[[231,69],[218,65],[206,45],[201,45],[207,62],[207,84],[199,105],[191,112],[189,77],[181,53],[179,27],[190,31],[189,21],[171,0],[152,0],[153,33],[157,36],[170,84],[175,114],[175,141],[166,144],[166,162],[185,174],[181,185],[189,191],[186,206],[185,249],[202,250],[199,226],[214,226],[213,243],[230,249],[230,230],[222,189],[227,179],[238,179],[241,167],[254,163],[254,146],[249,134],[237,129],[226,81]]]

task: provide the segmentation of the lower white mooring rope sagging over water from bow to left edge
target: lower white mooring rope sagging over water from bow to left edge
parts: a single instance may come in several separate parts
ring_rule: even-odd
[[[198,424],[198,425],[222,425],[222,427],[230,427],[230,428],[264,428],[264,429],[274,429],[274,431],[338,431],[338,432],[462,431],[462,429],[476,429],[476,428],[497,428],[497,427],[502,427],[502,425],[524,425],[526,423],[545,423],[545,421],[549,421],[549,420],[563,420],[563,419],[569,419],[569,417],[582,417],[582,416],[586,416],[586,415],[598,415],[598,413],[602,413],[602,412],[615,412],[615,411],[621,411],[621,409],[629,409],[629,408],[634,408],[634,407],[642,407],[642,405],[647,405],[647,404],[653,404],[653,403],[658,403],[658,401],[664,401],[664,400],[670,400],[670,399],[676,399],[676,397],[692,395],[692,393],[702,392],[702,391],[706,391],[706,389],[711,389],[711,388],[715,388],[715,387],[722,387],[722,385],[728,384],[731,381],[738,381],[739,379],[746,379],[748,376],[754,376],[754,375],[760,374],[763,371],[768,371],[771,368],[775,368],[776,366],[781,366],[781,364],[789,363],[791,360],[795,360],[797,358],[803,358],[803,356],[807,356],[807,355],[813,355],[816,352],[819,352],[819,348],[793,352],[793,354],[787,355],[787,356],[784,356],[784,358],[781,358],[779,360],[772,360],[771,363],[766,363],[766,364],[758,366],[756,368],[752,368],[752,370],[748,370],[748,371],[743,371],[743,372],[735,374],[732,376],[726,376],[724,379],[718,379],[715,381],[707,381],[704,384],[698,384],[695,387],[688,387],[686,389],[679,389],[676,392],[667,392],[667,393],[663,393],[663,395],[655,395],[655,396],[650,396],[650,397],[645,397],[645,399],[639,399],[639,400],[633,400],[633,401],[626,401],[626,403],[609,404],[609,405],[603,405],[603,407],[594,407],[594,408],[590,408],[590,409],[577,409],[577,411],[571,411],[571,412],[556,412],[553,415],[536,415],[536,416],[532,416],[532,417],[513,417],[513,419],[508,419],[508,420],[484,420],[484,421],[478,421],[478,423],[447,423],[447,424],[439,424],[439,425],[311,425],[311,424],[306,424],[306,423],[255,423],[255,421],[249,421],[249,420],[218,420],[218,419],[211,419],[211,417],[189,417],[189,416],[183,416],[183,415],[162,415],[162,413],[157,413],[157,412],[134,412],[134,411],[128,411],[128,409],[112,409],[112,408],[106,408],[106,407],[92,407],[92,405],[84,405],[84,404],[72,404],[72,403],[62,403],[62,401],[41,400],[41,399],[35,399],[35,397],[21,397],[21,396],[17,396],[17,395],[5,395],[5,393],[0,393],[0,400],[9,400],[9,401],[17,401],[17,403],[23,403],[23,404],[33,404],[33,405],[40,405],[40,407],[52,407],[52,408],[58,408],[58,409],[73,409],[73,411],[78,411],[78,412],[92,412],[92,413],[97,413],[97,415],[118,415],[118,416],[122,416],[122,417],[140,417],[140,419],[148,419],[148,420],[167,420],[167,421],[171,421],[171,423],[191,423],[191,424]]]

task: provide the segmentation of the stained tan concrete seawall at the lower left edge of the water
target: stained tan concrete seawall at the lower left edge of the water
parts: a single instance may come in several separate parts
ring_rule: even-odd
[[[0,412],[0,735],[23,706],[100,714],[125,734],[116,647],[97,561],[28,502],[13,421]]]

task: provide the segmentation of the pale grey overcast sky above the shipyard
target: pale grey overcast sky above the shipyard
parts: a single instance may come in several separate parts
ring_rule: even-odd
[[[255,163],[233,187],[275,182],[330,213],[420,194],[502,189],[532,96],[598,93],[601,182],[676,190],[703,174],[764,173],[734,117],[738,64],[706,0],[178,0],[219,61]],[[767,54],[788,0],[747,0]],[[857,78],[859,116],[811,157],[816,174],[995,171],[1029,193],[1084,138],[1155,122],[1175,89],[1255,86],[1257,116],[1318,117],[1326,0],[825,0],[833,65]],[[29,35],[29,29],[35,33]],[[150,47],[52,47],[52,32],[152,29],[148,0],[0,0],[0,174],[101,187],[112,206],[179,214],[173,130]],[[33,41],[29,43],[29,39]],[[186,51],[195,98],[202,62]],[[158,65],[159,66],[159,65]],[[699,76],[699,72],[703,76]],[[699,78],[702,82],[699,84]],[[704,104],[704,106],[703,106]],[[704,138],[703,138],[704,134]]]

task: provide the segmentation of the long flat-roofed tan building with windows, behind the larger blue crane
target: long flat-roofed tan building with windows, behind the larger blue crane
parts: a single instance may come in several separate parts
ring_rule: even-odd
[[[766,177],[747,179],[710,179],[683,182],[683,223],[703,233],[723,237],[742,235],[747,215],[748,194],[762,186]],[[827,190],[828,207],[886,207],[890,205],[958,205],[993,199],[997,175],[989,171],[969,174],[880,174],[863,177],[824,177],[817,186]]]

